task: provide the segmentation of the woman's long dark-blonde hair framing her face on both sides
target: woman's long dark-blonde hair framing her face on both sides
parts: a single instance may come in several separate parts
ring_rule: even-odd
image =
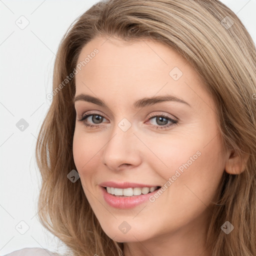
[[[82,189],[67,174],[75,169],[73,72],[81,48],[95,36],[127,41],[151,38],[175,49],[205,81],[218,108],[226,148],[249,154],[240,174],[224,171],[207,233],[212,256],[256,255],[256,50],[238,17],[218,0],[109,0],[80,15],[61,39],[53,73],[55,91],[41,125],[36,160],[42,177],[38,216],[74,256],[123,255],[123,243],[99,225]],[[63,83],[62,83],[63,84]],[[58,90],[56,90],[58,88]],[[234,230],[220,226],[228,220]]]

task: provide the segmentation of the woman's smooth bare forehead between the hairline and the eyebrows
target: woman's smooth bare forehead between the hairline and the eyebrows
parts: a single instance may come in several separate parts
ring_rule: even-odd
[[[82,48],[79,63],[81,67],[75,75],[76,95],[92,92],[105,98],[111,92],[114,99],[172,93],[184,100],[189,97],[190,101],[199,102],[198,97],[204,98],[203,101],[208,100],[214,107],[202,79],[190,63],[160,42],[96,37]]]

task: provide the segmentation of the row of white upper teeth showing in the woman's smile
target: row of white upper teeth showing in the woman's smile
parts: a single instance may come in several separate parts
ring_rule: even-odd
[[[140,194],[147,194],[149,192],[153,192],[156,190],[157,186],[152,187],[128,187],[128,188],[116,188],[116,187],[106,187],[106,191],[109,194],[114,194],[118,196],[132,196],[132,195],[140,195]]]

